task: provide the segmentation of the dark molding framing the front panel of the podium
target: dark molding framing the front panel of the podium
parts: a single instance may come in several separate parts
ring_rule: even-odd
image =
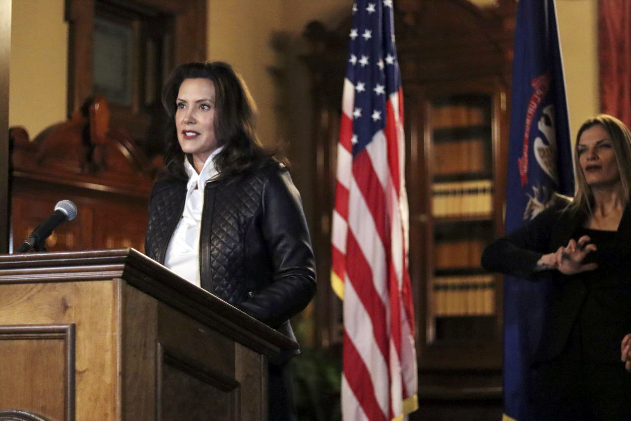
[[[0,341],[8,340],[61,340],[65,348],[64,391],[65,421],[74,421],[74,349],[75,335],[73,324],[60,325],[8,325],[0,326]],[[22,410],[8,410],[0,412],[0,421],[48,421],[35,413]]]

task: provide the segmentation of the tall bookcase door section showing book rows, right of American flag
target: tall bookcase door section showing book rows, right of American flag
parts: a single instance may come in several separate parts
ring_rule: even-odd
[[[492,372],[499,390],[502,278],[483,270],[480,258],[504,224],[508,87],[490,75],[408,92],[410,272],[420,375]]]

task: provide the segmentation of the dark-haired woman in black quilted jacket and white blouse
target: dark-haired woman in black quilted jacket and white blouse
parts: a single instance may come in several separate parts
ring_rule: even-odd
[[[146,254],[295,340],[315,294],[300,195],[254,133],[254,102],[224,62],[182,64],[162,92],[165,172],[151,192]],[[297,353],[297,352],[296,352]],[[293,420],[288,360],[269,364],[269,419]]]

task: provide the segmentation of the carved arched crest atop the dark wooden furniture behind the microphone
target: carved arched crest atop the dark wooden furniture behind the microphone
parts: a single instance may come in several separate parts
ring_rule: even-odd
[[[110,124],[109,105],[101,95],[33,139],[20,126],[9,129],[9,138],[14,183],[43,181],[145,199],[159,168]]]

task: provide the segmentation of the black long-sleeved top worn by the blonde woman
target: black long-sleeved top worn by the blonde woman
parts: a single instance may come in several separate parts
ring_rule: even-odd
[[[558,355],[619,362],[620,341],[631,333],[631,210],[627,206],[618,230],[583,228],[584,212],[567,210],[569,201],[556,203],[483,252],[487,270],[546,282],[549,293],[543,309],[544,325],[534,362]],[[557,270],[535,271],[537,261],[570,239],[591,235],[598,251],[587,261],[598,269],[567,276]]]

